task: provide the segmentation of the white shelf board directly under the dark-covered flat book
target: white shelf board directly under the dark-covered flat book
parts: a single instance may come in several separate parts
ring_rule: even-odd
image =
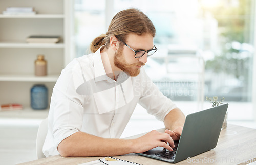
[[[63,43],[0,42],[0,48],[64,48]]]

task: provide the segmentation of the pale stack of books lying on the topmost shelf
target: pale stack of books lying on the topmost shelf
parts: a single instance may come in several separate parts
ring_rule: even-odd
[[[33,7],[8,7],[3,15],[35,15]]]

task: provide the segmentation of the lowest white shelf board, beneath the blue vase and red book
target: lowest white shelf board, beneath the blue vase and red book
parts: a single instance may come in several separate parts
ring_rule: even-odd
[[[0,111],[0,118],[34,118],[45,119],[48,117],[49,109],[33,110],[24,108],[22,110]]]

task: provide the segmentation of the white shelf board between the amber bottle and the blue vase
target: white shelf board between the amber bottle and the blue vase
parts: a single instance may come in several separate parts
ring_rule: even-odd
[[[34,76],[34,75],[11,75],[0,74],[0,81],[17,81],[17,82],[56,82],[59,75]]]

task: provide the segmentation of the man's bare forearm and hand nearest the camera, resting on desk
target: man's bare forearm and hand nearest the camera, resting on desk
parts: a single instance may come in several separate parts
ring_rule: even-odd
[[[59,143],[58,151],[63,157],[116,156],[141,153],[158,146],[173,151],[170,134],[153,130],[136,139],[111,139],[76,132]]]

